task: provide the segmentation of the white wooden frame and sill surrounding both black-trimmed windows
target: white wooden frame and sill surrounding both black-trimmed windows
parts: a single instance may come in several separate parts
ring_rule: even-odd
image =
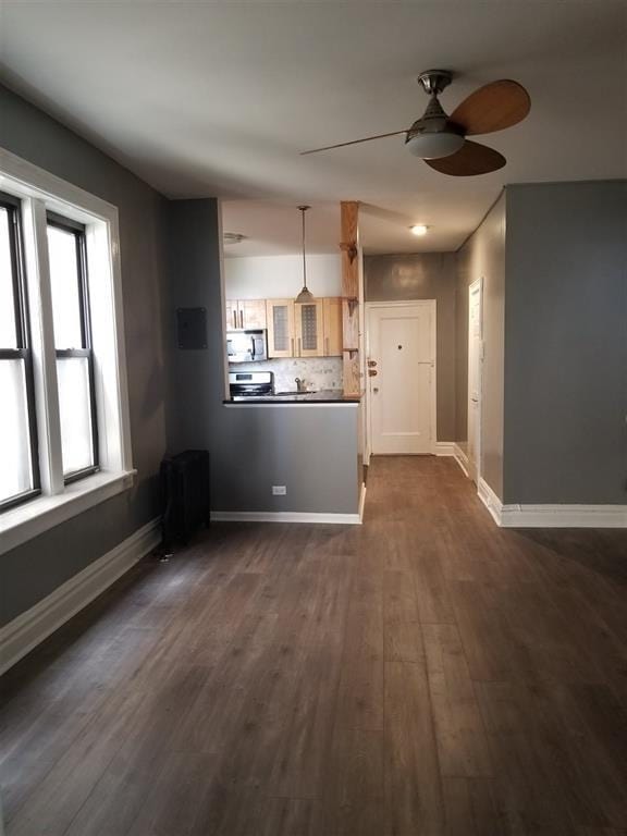
[[[118,208],[0,148],[0,190],[22,200],[41,493],[0,514],[0,554],[133,485]],[[46,212],[85,224],[99,472],[65,484]],[[96,314],[96,315],[95,315]]]

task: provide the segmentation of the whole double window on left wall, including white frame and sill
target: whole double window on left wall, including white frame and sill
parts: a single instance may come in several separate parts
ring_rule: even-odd
[[[118,210],[0,148],[0,553],[133,484]]]

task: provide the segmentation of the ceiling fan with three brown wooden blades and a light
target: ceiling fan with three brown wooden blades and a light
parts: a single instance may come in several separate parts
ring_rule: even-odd
[[[329,151],[346,145],[369,143],[386,136],[405,134],[405,145],[410,153],[420,157],[435,171],[467,177],[487,174],[505,165],[505,157],[493,148],[467,139],[476,134],[491,134],[521,122],[531,107],[529,94],[518,82],[503,78],[492,82],[470,94],[448,116],[438,96],[453,79],[450,70],[428,70],[420,73],[418,83],[431,99],[427,110],[410,127],[377,134],[364,139],[327,145],[302,151],[302,155]]]

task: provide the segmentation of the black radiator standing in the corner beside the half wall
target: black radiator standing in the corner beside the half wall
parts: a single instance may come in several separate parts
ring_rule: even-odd
[[[208,526],[209,453],[186,450],[164,458],[160,469],[162,533],[164,550],[173,543],[186,543],[200,526]]]

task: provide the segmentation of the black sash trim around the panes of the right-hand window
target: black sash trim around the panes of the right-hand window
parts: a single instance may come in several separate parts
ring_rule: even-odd
[[[91,312],[89,307],[89,281],[87,273],[87,246],[85,239],[85,224],[73,221],[70,218],[57,214],[56,212],[46,212],[46,221],[49,226],[70,232],[74,235],[76,245],[76,263],[78,265],[78,300],[81,305],[81,348],[56,348],[54,356],[62,357],[86,357],[89,382],[89,411],[91,418],[91,453],[94,464],[79,470],[73,470],[65,474],[63,482],[70,484],[87,476],[97,474],[100,470],[98,456],[98,415],[96,411],[96,376],[94,370],[94,348],[91,344]]]

